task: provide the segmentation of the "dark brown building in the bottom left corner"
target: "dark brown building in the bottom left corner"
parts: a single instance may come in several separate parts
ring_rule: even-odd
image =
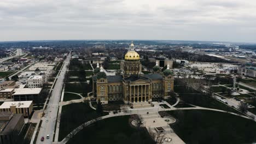
[[[19,143],[20,139],[18,139],[18,137],[24,124],[22,114],[0,112],[0,144]]]

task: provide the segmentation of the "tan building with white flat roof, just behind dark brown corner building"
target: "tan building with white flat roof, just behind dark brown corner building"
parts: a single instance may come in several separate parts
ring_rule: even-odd
[[[30,117],[33,112],[33,101],[6,101],[0,106],[0,112],[10,111]]]

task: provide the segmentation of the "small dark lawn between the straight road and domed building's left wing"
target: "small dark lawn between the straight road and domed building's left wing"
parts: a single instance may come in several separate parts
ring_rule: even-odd
[[[91,89],[92,89],[92,86],[88,85],[86,82],[65,84],[65,92],[88,93],[92,91]]]

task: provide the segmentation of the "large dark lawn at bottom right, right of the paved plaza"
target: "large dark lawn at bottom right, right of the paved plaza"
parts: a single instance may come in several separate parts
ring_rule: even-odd
[[[256,122],[229,113],[208,110],[168,111],[178,119],[171,124],[185,143],[252,143]]]

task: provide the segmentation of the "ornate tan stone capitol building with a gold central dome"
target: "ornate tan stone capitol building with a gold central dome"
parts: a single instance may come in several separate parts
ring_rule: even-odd
[[[133,43],[121,62],[122,75],[107,76],[103,68],[94,70],[93,92],[102,104],[123,100],[126,104],[152,101],[152,98],[168,98],[173,92],[173,73],[170,66],[161,73],[156,62],[154,74],[141,73],[139,54]]]

